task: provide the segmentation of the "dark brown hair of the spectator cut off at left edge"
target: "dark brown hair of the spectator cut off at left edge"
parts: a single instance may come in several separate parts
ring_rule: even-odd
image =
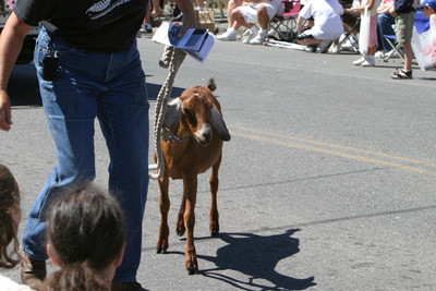
[[[16,239],[17,227],[11,217],[11,210],[20,208],[20,190],[11,171],[0,163],[0,267],[13,268],[20,258],[12,258],[20,248]],[[8,252],[8,245],[13,247]]]

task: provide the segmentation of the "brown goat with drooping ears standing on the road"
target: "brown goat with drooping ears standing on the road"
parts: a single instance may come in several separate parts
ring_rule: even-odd
[[[164,126],[172,137],[168,141],[160,141],[165,173],[159,179],[161,221],[157,252],[166,253],[168,250],[169,178],[183,179],[183,197],[178,214],[177,234],[183,235],[186,230],[184,254],[186,270],[190,275],[198,271],[194,245],[197,174],[209,168],[211,168],[209,230],[211,235],[217,235],[219,232],[218,169],[221,163],[222,141],[230,141],[230,134],[222,120],[220,105],[211,94],[215,87],[211,78],[207,87],[187,88],[182,96],[170,102],[167,107]]]

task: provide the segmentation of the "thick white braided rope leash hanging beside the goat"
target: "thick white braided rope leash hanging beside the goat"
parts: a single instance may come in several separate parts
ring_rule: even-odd
[[[162,59],[159,60],[159,65],[162,68],[169,68],[167,80],[160,87],[159,95],[156,100],[155,111],[155,128],[153,137],[156,146],[157,163],[148,166],[148,177],[152,179],[159,179],[165,172],[164,155],[160,147],[160,137],[162,134],[162,124],[165,119],[165,112],[167,111],[168,99],[172,92],[172,84],[174,83],[175,74],[179,71],[186,53],[180,49],[173,47],[165,47]],[[150,170],[157,170],[157,173],[150,172]]]

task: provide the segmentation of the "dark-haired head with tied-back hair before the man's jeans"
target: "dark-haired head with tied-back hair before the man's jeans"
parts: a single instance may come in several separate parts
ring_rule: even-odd
[[[86,274],[77,270],[81,266],[100,274],[120,255],[124,244],[121,208],[112,196],[95,186],[65,193],[51,208],[47,241],[62,268],[59,272],[63,275],[58,274],[58,279],[73,274],[81,277]],[[71,269],[75,271],[65,275]],[[83,282],[81,278],[76,280]]]

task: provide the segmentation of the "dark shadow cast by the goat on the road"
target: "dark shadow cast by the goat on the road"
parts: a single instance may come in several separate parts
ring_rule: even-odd
[[[217,256],[198,255],[201,259],[214,263],[217,268],[199,270],[199,274],[228,282],[242,290],[303,290],[315,286],[314,277],[296,279],[276,271],[277,264],[300,252],[299,239],[291,235],[299,229],[290,229],[281,234],[257,235],[253,233],[220,233],[219,239],[227,242],[217,251]],[[196,239],[197,240],[197,239]],[[250,277],[247,281],[225,276],[219,270],[232,269]],[[271,286],[262,284],[262,280]],[[257,282],[256,282],[257,281]]]

